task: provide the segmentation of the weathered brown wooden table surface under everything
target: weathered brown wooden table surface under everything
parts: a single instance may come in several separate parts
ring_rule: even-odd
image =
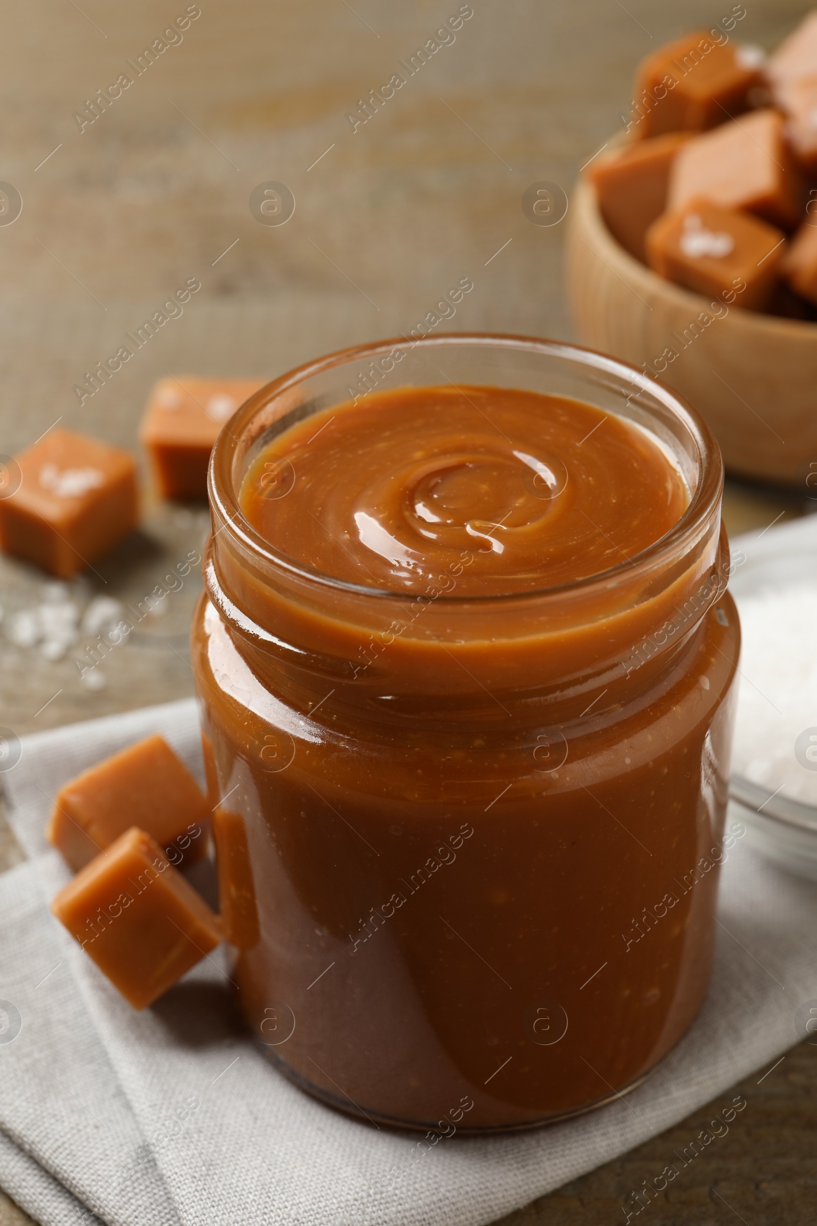
[[[473,0],[474,15],[369,123],[345,115],[458,4],[436,0],[201,0],[201,16],[80,130],[86,101],[158,38],[175,7],[143,0],[0,0],[0,180],[23,208],[0,224],[0,452],[61,424],[136,447],[151,384],[165,371],[274,376],[320,353],[409,331],[463,276],[474,291],[453,330],[571,336],[561,226],[533,226],[521,199],[539,180],[570,197],[578,168],[620,126],[636,61],[731,11],[688,0]],[[752,0],[739,33],[772,47],[808,10]],[[721,11],[723,10],[723,11]],[[130,71],[130,70],[129,70]],[[284,183],[280,227],[250,211]],[[80,405],[73,386],[189,277],[202,288],[134,359]],[[730,532],[812,509],[805,492],[731,483]],[[197,548],[202,508],[160,504],[146,481],[142,528],[72,585],[137,603]],[[44,577],[0,558],[5,626]],[[162,615],[80,682],[73,653],[45,661],[0,624],[0,723],[15,733],[192,690],[191,579]],[[81,645],[85,646],[85,645]],[[20,851],[0,829],[0,867]],[[1,935],[0,935],[0,939]],[[817,1060],[804,1045],[759,1085],[751,1110],[649,1209],[653,1226],[815,1220]],[[737,1092],[737,1089],[735,1092]],[[622,1220],[626,1194],[703,1125],[706,1110],[506,1219],[506,1226]],[[28,1219],[0,1193],[0,1226]]]

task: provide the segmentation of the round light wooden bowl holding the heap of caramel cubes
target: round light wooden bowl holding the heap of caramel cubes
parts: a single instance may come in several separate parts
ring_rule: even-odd
[[[713,305],[664,281],[619,246],[587,180],[568,222],[567,293],[581,343],[688,400],[732,474],[805,493],[817,472],[817,324]]]

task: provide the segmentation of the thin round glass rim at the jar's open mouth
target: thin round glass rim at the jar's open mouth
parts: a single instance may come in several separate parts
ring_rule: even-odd
[[[295,367],[258,389],[222,429],[211,454],[207,490],[211,511],[216,511],[222,520],[222,526],[218,531],[229,531],[229,533],[234,535],[241,542],[245,549],[250,550],[257,563],[283,571],[289,577],[325,590],[344,592],[349,596],[404,603],[407,596],[410,597],[412,595],[405,588],[392,590],[354,584],[299,563],[289,557],[289,554],[277,549],[244,515],[238,490],[233,483],[233,462],[240,436],[256,414],[282,394],[296,387],[306,379],[349,362],[369,360],[377,356],[391,353],[394,349],[423,347],[441,348],[445,351],[446,347],[452,345],[519,349],[528,353],[546,354],[552,358],[572,359],[589,369],[616,376],[631,386],[638,386],[639,391],[632,397],[633,400],[637,400],[642,391],[649,392],[665,408],[670,409],[686,428],[697,450],[698,481],[683,514],[664,536],[659,537],[658,541],[654,541],[639,553],[625,558],[606,570],[597,571],[593,575],[584,575],[581,579],[574,579],[565,584],[538,587],[524,592],[502,592],[499,595],[491,592],[468,596],[446,596],[441,593],[436,597],[435,603],[445,607],[516,603],[588,592],[594,586],[609,587],[619,576],[631,573],[633,568],[638,568],[642,571],[644,568],[649,568],[649,570],[660,569],[661,564],[685,541],[692,539],[696,536],[697,531],[703,527],[713,510],[718,506],[724,484],[724,466],[720,447],[698,411],[682,396],[671,391],[654,376],[644,374],[643,370],[619,358],[612,358],[585,346],[566,341],[551,341],[544,337],[524,336],[513,332],[443,332],[440,336],[424,336],[420,340],[412,340],[410,342],[405,337],[399,336],[336,349],[321,358]]]

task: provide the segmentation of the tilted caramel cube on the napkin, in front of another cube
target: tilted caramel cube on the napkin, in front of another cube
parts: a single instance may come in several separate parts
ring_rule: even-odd
[[[51,911],[135,1009],[222,939],[218,917],[136,826],[86,864]]]

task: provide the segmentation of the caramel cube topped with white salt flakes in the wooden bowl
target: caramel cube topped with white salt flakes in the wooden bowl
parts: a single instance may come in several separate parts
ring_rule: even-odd
[[[744,284],[735,305],[762,310],[778,280],[784,239],[757,217],[696,200],[653,222],[647,257],[659,276],[712,298]]]

